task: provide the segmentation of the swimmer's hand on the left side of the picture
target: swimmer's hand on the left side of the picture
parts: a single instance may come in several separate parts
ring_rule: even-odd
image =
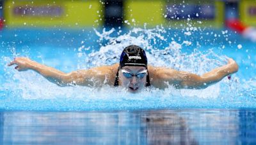
[[[17,65],[14,68],[18,71],[27,71],[31,68],[33,61],[28,59],[27,57],[17,57],[15,58],[8,66],[13,66],[13,64]]]

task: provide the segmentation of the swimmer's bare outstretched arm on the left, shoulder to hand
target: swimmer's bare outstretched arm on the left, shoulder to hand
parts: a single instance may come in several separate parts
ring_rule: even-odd
[[[100,86],[104,83],[111,84],[111,76],[109,74],[111,74],[112,66],[95,67],[88,70],[65,73],[52,67],[44,66],[43,64],[30,60],[26,57],[15,58],[10,62],[10,64],[8,64],[8,66],[12,65],[17,65],[15,69],[18,71],[36,71],[44,76],[44,78],[59,86]]]

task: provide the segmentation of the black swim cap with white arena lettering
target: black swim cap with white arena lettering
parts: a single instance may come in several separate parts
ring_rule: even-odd
[[[120,57],[120,68],[124,66],[143,66],[147,68],[147,56],[145,51],[136,45],[124,48]]]

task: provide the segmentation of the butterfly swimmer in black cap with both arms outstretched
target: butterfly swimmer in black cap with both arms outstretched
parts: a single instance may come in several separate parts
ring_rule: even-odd
[[[238,66],[233,59],[228,59],[225,66],[206,72],[202,76],[190,72],[177,71],[167,67],[154,67],[147,64],[147,56],[140,46],[127,46],[121,54],[120,63],[113,66],[93,67],[69,73],[44,66],[26,57],[15,58],[8,66],[16,65],[17,71],[33,70],[59,86],[122,86],[129,92],[140,92],[143,88],[154,86],[166,88],[207,88],[225,76],[237,72]]]

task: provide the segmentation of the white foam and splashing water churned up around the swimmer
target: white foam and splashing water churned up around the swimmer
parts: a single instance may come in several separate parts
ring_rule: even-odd
[[[112,65],[118,62],[124,46],[139,45],[145,48],[148,64],[152,66],[172,67],[179,71],[204,74],[227,63],[226,56],[214,52],[214,48],[202,51],[200,47],[193,52],[182,52],[184,46],[191,41],[178,43],[175,40],[166,42],[163,27],[155,29],[134,28],[121,34],[120,30],[111,29],[102,32],[95,30],[99,36],[99,50],[93,50],[82,42],[80,48],[74,50],[77,62],[76,69]],[[114,34],[116,33],[116,34]],[[168,43],[164,48],[157,48],[157,43]],[[13,56],[24,56],[28,51]],[[5,64],[12,57],[2,56],[4,67],[3,84],[0,86],[1,109],[25,110],[108,110],[108,109],[163,109],[172,107],[256,107],[255,80],[239,81],[234,74],[232,80],[224,78],[220,83],[203,90],[175,89],[169,86],[164,90],[146,88],[140,93],[129,93],[125,88],[103,86],[91,88],[86,86],[61,87],[50,83],[33,71],[17,72]],[[58,58],[56,58],[58,59]],[[45,61],[42,59],[42,61]],[[77,64],[76,64],[77,63]],[[48,64],[51,66],[51,64]],[[65,66],[63,66],[65,67]],[[74,70],[69,70],[74,71]],[[248,91],[250,90],[250,91]]]

